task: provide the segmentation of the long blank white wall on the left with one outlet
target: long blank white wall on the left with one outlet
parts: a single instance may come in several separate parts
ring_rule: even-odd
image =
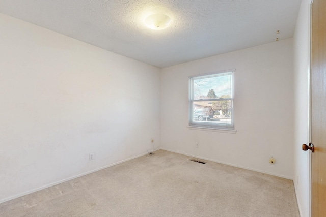
[[[0,202],[159,146],[160,69],[3,14],[0,33]]]

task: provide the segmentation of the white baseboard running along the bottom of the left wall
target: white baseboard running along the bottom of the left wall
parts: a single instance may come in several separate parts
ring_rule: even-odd
[[[159,149],[156,149],[156,150],[159,150]],[[23,192],[21,194],[17,194],[17,195],[11,196],[11,197],[7,197],[5,199],[0,200],[0,203],[4,203],[4,202],[7,202],[9,200],[13,200],[13,199],[16,199],[16,198],[19,198],[19,197],[34,193],[34,192],[37,192],[37,191],[52,187],[52,186],[57,185],[57,184],[61,184],[61,183],[65,182],[65,181],[70,181],[72,179],[79,178],[79,177],[82,177],[84,175],[88,175],[90,173],[93,173],[93,172],[96,172],[96,171],[99,171],[99,170],[102,170],[102,169],[105,169],[105,168],[108,168],[108,167],[112,167],[112,166],[115,166],[117,164],[121,164],[121,163],[126,162],[126,161],[130,161],[132,159],[144,156],[146,154],[148,154],[148,151],[145,152],[145,153],[139,154],[138,156],[134,156],[134,157],[131,157],[131,158],[128,158],[128,159],[125,159],[125,160],[122,160],[122,161],[119,161],[119,162],[116,162],[116,163],[113,163],[113,164],[109,164],[109,165],[106,165],[106,166],[103,166],[103,167],[100,167],[100,168],[97,168],[97,169],[94,169],[94,170],[91,170],[91,171],[88,171],[88,172],[85,172],[85,173],[81,173],[81,174],[78,174],[78,175],[75,175],[75,176],[60,180],[60,181],[56,181],[56,182],[53,182],[53,183],[50,183],[50,184],[46,184],[46,185],[44,185],[44,186],[42,186],[40,188],[32,189],[30,191],[26,191],[26,192]]]

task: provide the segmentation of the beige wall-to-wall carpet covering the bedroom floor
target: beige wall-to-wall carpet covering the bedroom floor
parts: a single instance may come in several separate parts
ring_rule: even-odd
[[[0,204],[0,216],[299,216],[293,181],[155,151]]]

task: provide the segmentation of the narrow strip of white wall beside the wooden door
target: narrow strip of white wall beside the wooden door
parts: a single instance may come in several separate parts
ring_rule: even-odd
[[[294,34],[294,186],[301,216],[310,216],[309,67],[310,2],[303,0]]]

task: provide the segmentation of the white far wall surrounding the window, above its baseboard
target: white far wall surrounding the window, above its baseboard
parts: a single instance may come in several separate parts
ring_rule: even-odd
[[[161,147],[292,179],[292,43],[281,40],[162,69]],[[187,129],[188,77],[233,68],[236,134]]]

